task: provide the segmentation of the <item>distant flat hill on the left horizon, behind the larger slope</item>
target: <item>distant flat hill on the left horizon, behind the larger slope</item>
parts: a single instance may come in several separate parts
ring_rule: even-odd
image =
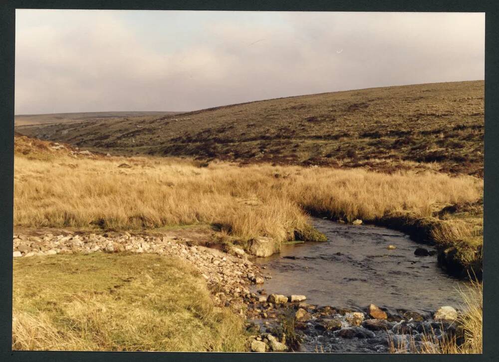
[[[16,114],[14,125],[47,124],[63,122],[80,122],[88,120],[103,120],[109,118],[127,118],[178,114],[180,112],[79,112],[79,113],[47,113],[47,114]]]

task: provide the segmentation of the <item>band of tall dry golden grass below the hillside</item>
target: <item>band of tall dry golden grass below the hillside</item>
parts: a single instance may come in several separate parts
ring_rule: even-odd
[[[130,168],[120,168],[127,163]],[[483,181],[411,171],[304,168],[224,162],[197,167],[168,158],[33,160],[18,155],[14,225],[154,228],[220,224],[247,240],[293,238],[309,218],[303,210],[346,220],[375,221],[393,213],[429,217],[435,205],[475,202]]]

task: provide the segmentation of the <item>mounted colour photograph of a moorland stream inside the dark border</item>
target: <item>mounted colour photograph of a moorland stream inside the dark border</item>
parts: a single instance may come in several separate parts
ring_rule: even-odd
[[[16,9],[12,350],[482,354],[484,79],[483,12]]]

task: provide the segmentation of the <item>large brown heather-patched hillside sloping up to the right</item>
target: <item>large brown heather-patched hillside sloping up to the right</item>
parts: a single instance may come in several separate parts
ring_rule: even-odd
[[[16,131],[112,154],[483,176],[484,81],[313,94]]]

